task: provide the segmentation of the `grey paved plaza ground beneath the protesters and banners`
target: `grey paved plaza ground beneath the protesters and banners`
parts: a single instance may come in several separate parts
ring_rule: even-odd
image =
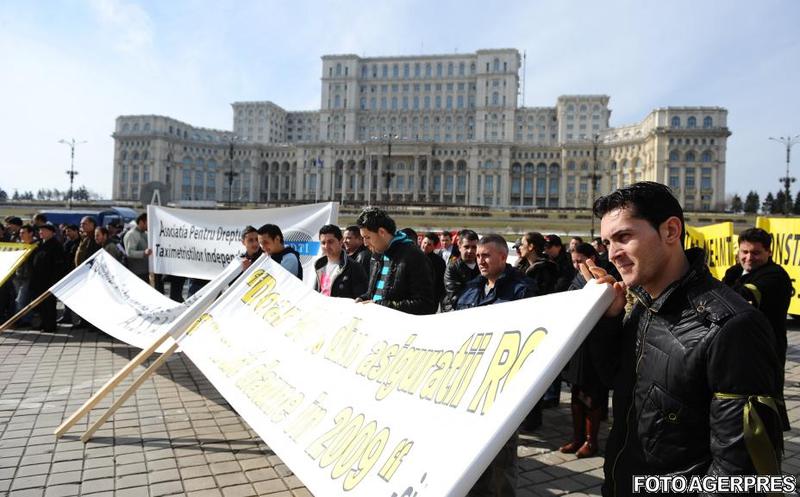
[[[797,475],[800,321],[789,326],[785,392],[795,428],[785,434],[784,471]],[[56,441],[62,420],[138,351],[68,327],[0,334],[0,495],[311,495],[183,354],[170,357],[88,444],[81,433],[113,397]],[[536,436],[522,437],[521,496],[600,494],[602,457],[578,460],[557,450],[571,430],[566,389],[561,400],[545,410]],[[607,432],[604,425],[601,446]]]

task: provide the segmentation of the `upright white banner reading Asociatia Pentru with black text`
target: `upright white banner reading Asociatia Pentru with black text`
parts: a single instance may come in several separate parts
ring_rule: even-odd
[[[271,223],[279,226],[286,245],[300,254],[303,277],[314,281],[319,255],[319,229],[336,224],[339,204],[300,205],[277,209],[196,210],[147,206],[150,270],[209,280],[244,253],[242,230]]]

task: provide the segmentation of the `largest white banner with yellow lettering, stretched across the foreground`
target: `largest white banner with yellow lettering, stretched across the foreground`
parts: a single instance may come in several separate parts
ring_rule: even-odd
[[[317,497],[463,496],[612,298],[606,285],[413,316],[262,258],[184,352]]]

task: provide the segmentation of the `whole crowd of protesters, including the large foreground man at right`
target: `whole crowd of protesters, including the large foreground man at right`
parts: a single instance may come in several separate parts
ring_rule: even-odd
[[[573,237],[565,246],[556,234],[531,231],[511,245],[510,264],[510,244],[498,234],[462,229],[417,236],[386,211],[367,207],[353,226],[319,230],[314,289],[425,315],[577,291],[589,280],[611,285],[614,300],[604,316],[471,497],[516,495],[518,433],[541,425],[541,410],[558,405],[563,381],[572,436],[560,451],[584,458],[604,450],[604,495],[630,495],[634,475],[779,474],[782,431],[789,429],[783,374],[793,289],[771,260],[771,236],[757,228],[741,233],[738,262],[720,282],[701,249],[684,249],[683,211],[664,185],[614,191],[597,200],[594,215],[601,237],[590,243]],[[32,224],[6,218],[0,237],[37,245],[0,289],[6,315],[100,249],[148,279],[144,214],[124,235],[120,226],[97,227],[90,217],[58,228],[41,218]],[[300,254],[280,227],[248,226],[242,245],[245,268],[267,254],[303,278]],[[154,283],[159,288],[158,278]],[[183,278],[171,284],[180,285],[171,296],[182,298]],[[44,331],[55,330],[54,298],[39,306],[39,316]],[[601,448],[612,392],[613,425]]]

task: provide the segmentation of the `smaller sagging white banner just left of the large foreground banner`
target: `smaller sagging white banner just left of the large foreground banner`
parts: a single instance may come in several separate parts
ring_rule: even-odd
[[[230,282],[241,273],[241,262],[225,270],[186,302],[178,303],[128,271],[105,250],[98,250],[50,292],[79,316],[118,340],[147,348],[166,332],[182,334]],[[172,345],[167,340],[157,352]]]

